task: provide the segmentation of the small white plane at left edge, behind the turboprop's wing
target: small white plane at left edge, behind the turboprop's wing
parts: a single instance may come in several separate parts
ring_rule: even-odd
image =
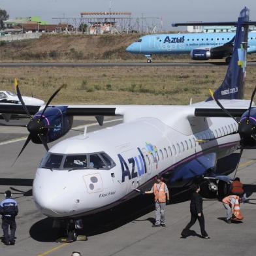
[[[34,97],[22,97],[24,104],[28,106],[42,106],[44,104],[44,101],[34,98]],[[0,91],[0,106],[9,106],[10,104],[21,104],[20,99],[15,93],[12,93],[11,91]],[[10,118],[12,114],[10,113],[1,113],[1,116],[5,121],[10,121]],[[16,116],[15,119],[18,119],[19,117]]]

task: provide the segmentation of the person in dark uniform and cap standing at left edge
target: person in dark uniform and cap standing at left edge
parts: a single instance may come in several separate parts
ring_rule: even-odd
[[[2,229],[3,229],[3,242],[4,244],[15,244],[15,231],[16,221],[15,217],[18,214],[18,204],[16,200],[12,199],[12,192],[5,191],[5,200],[0,203],[0,214],[2,215]],[[10,226],[10,236],[9,236]]]

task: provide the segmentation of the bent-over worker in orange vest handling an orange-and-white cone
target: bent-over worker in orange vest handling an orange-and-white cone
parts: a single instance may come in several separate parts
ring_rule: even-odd
[[[222,199],[223,206],[226,209],[227,223],[231,223],[231,219],[242,221],[244,217],[240,212],[239,197],[237,195],[229,195]]]

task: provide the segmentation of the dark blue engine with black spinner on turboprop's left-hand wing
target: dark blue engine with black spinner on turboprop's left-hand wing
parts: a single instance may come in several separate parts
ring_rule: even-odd
[[[67,106],[48,106],[42,118],[41,113],[42,110],[37,112],[27,125],[34,143],[42,144],[40,136],[44,137],[45,142],[53,142],[64,136],[72,127],[73,116],[67,116]]]

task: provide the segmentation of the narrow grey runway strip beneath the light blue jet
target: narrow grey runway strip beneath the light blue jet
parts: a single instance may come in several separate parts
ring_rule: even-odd
[[[1,62],[0,67],[189,67],[214,66],[227,64],[225,61],[191,61],[191,62]],[[248,66],[255,66],[255,61],[248,61]]]

